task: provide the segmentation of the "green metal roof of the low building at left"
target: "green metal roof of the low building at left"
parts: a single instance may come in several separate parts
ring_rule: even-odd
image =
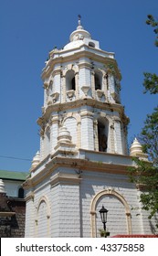
[[[25,172],[11,172],[0,170],[0,178],[2,179],[13,179],[13,180],[26,180],[28,173]]]

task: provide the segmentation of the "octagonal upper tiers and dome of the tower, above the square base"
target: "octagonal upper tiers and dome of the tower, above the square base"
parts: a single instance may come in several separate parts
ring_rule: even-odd
[[[80,21],[62,49],[49,52],[42,70],[44,106],[40,160],[55,153],[58,133],[68,129],[79,148],[127,155],[128,118],[121,105],[121,73],[114,53],[100,48]]]

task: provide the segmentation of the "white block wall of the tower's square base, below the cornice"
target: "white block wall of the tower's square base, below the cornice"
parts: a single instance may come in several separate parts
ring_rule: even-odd
[[[132,216],[132,234],[153,232],[154,219],[147,219],[147,213],[142,212],[140,191],[129,182],[128,176],[83,169],[79,183],[65,180],[51,185],[52,178],[58,172],[66,176],[76,174],[74,168],[60,167],[37,185],[34,200],[26,203],[26,237],[91,237],[91,202],[100,191],[109,190],[115,191],[127,202]],[[107,229],[111,236],[129,234],[126,209],[119,197],[109,193],[96,203],[97,237],[100,236],[99,229],[102,229],[99,213],[102,205],[109,210]]]

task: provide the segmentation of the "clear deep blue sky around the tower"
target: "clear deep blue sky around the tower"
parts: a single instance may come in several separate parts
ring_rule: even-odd
[[[157,0],[0,0],[0,169],[28,171],[39,149],[40,78],[48,51],[68,43],[78,15],[100,48],[115,52],[121,102],[130,117],[128,142],[141,132],[157,95],[143,94],[143,72],[157,73],[158,49],[146,16],[158,18]]]

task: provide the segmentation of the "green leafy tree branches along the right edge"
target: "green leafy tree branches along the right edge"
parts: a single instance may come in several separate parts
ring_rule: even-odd
[[[149,15],[146,24],[152,26],[156,34],[155,46],[158,47],[158,22]],[[144,73],[144,93],[158,93],[158,76],[152,73]],[[149,157],[149,162],[134,158],[136,168],[130,168],[130,176],[133,183],[142,187],[140,201],[142,208],[149,211],[149,219],[158,213],[158,106],[152,114],[148,114],[139,136],[142,150]],[[156,224],[158,228],[158,223]]]

